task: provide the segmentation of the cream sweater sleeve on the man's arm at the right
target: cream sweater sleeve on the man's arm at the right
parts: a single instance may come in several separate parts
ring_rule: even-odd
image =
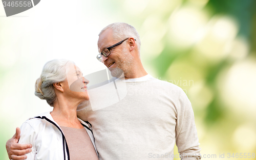
[[[179,94],[176,110],[176,145],[181,159],[201,159],[194,112],[183,90]]]

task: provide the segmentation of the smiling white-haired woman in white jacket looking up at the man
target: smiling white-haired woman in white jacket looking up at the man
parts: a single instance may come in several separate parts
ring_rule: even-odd
[[[79,103],[89,100],[81,70],[68,60],[45,64],[35,83],[35,95],[52,112],[29,118],[20,127],[19,143],[32,144],[27,159],[98,159],[90,124],[76,116]]]

